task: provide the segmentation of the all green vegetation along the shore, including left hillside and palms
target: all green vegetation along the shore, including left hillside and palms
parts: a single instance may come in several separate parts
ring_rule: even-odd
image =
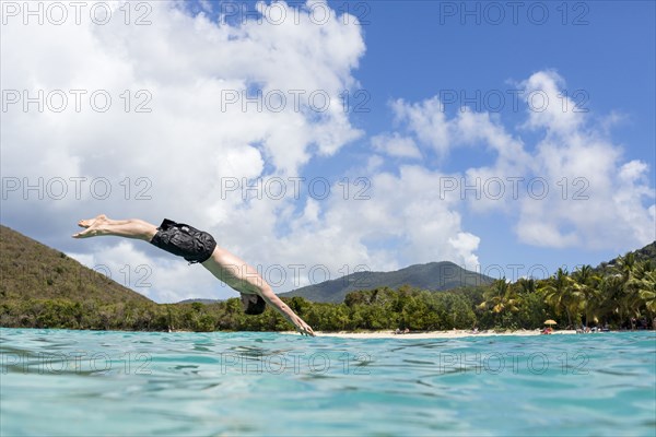
[[[246,316],[237,298],[213,304],[155,304],[57,250],[0,229],[0,326],[99,330],[282,331],[292,327],[268,308]],[[639,252],[656,253],[656,243]],[[496,280],[443,292],[418,286],[353,291],[341,303],[283,299],[315,330],[412,331],[559,328],[656,318],[654,258],[630,252],[604,268],[559,269],[546,280]],[[429,265],[429,264],[424,264]],[[652,326],[652,324],[651,324]]]

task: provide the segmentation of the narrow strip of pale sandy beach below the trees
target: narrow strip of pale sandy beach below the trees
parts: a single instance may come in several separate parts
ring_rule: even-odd
[[[290,332],[291,333],[291,332]],[[396,334],[393,331],[370,331],[370,332],[317,332],[317,336],[339,336],[344,339],[459,339],[466,336],[493,336],[493,335],[541,335],[541,330],[518,330],[508,332],[479,331],[475,333],[470,330],[450,330],[450,331],[430,331],[430,332],[409,332],[407,334]],[[576,334],[574,330],[554,331],[552,335]]]

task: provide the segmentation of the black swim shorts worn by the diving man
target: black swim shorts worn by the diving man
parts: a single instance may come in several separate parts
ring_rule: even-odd
[[[164,218],[151,243],[189,263],[203,262],[212,256],[216,241],[210,234],[184,223]]]

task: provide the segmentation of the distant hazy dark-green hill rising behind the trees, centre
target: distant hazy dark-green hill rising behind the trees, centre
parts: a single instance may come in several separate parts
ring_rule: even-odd
[[[341,303],[347,294],[356,290],[378,287],[398,288],[402,285],[430,291],[445,291],[462,286],[487,285],[493,279],[465,270],[459,265],[443,261],[414,264],[393,272],[356,272],[337,280],[281,293],[281,297],[305,297],[312,302]]]

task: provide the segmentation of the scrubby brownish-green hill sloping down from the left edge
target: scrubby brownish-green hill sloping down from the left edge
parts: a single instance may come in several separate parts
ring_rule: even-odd
[[[110,312],[153,306],[104,274],[0,225],[0,326],[103,327]]]

